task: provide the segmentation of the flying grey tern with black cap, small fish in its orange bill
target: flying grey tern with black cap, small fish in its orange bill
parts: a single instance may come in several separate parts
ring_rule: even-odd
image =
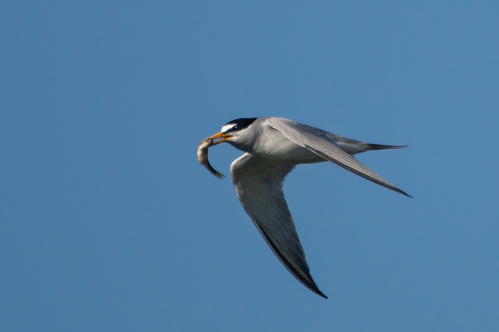
[[[310,275],[295,223],[284,199],[284,178],[296,165],[331,161],[362,178],[409,196],[353,158],[354,154],[369,150],[405,146],[359,142],[283,118],[233,120],[207,140],[201,142],[200,149],[227,142],[245,152],[230,167],[241,205],[290,273],[310,291],[326,299]],[[200,162],[205,165],[204,157]]]

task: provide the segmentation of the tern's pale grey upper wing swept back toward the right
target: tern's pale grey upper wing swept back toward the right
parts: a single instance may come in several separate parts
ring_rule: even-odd
[[[366,178],[394,192],[411,197],[340,149],[331,140],[331,133],[282,118],[268,118],[267,122],[270,124],[270,127],[279,130],[286,138],[312,151],[317,156],[321,156],[358,176],[362,176],[362,178]]]

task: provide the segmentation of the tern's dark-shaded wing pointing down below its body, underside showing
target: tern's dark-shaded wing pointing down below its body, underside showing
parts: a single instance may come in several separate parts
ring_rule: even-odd
[[[326,297],[310,276],[305,253],[282,191],[295,168],[276,160],[244,154],[231,165],[238,199],[274,254],[310,291]]]

